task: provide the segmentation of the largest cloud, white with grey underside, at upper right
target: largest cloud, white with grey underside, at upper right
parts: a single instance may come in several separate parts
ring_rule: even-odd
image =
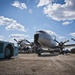
[[[57,4],[55,2],[53,4],[51,3],[51,1],[50,4],[45,3],[39,5],[38,3],[39,6],[46,5],[43,8],[43,13],[48,17],[56,21],[75,20],[75,0],[65,0],[65,4]]]

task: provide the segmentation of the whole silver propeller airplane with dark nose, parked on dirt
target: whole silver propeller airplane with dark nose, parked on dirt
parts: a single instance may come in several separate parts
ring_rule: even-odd
[[[34,34],[34,42],[29,42],[28,40],[24,39],[24,40],[19,41],[18,44],[23,41],[26,41],[29,43],[29,44],[23,44],[23,45],[31,46],[32,50],[36,52],[38,55],[41,55],[41,53],[43,52],[51,53],[51,52],[57,52],[57,51],[60,54],[64,54],[63,49],[65,47],[75,46],[75,44],[65,45],[65,43],[69,42],[69,40],[66,40],[64,42],[62,41],[58,42],[56,39],[53,39],[48,32],[44,30],[36,31],[36,33]],[[58,45],[56,43],[58,43]],[[44,50],[43,48],[47,48],[48,50]]]

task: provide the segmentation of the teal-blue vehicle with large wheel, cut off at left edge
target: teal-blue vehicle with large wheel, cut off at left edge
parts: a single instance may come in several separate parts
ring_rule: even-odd
[[[0,41],[0,58],[11,58],[18,55],[18,48],[14,43]]]

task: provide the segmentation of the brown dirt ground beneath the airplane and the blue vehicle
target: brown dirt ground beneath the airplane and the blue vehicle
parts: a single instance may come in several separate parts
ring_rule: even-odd
[[[1,59],[0,75],[75,75],[75,54],[19,54]]]

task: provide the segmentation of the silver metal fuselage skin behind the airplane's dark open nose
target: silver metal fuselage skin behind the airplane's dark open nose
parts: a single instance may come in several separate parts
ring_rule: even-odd
[[[38,42],[43,46],[47,48],[51,48],[56,46],[55,41],[52,39],[52,37],[45,31],[44,33],[38,31],[37,34],[39,34]]]

